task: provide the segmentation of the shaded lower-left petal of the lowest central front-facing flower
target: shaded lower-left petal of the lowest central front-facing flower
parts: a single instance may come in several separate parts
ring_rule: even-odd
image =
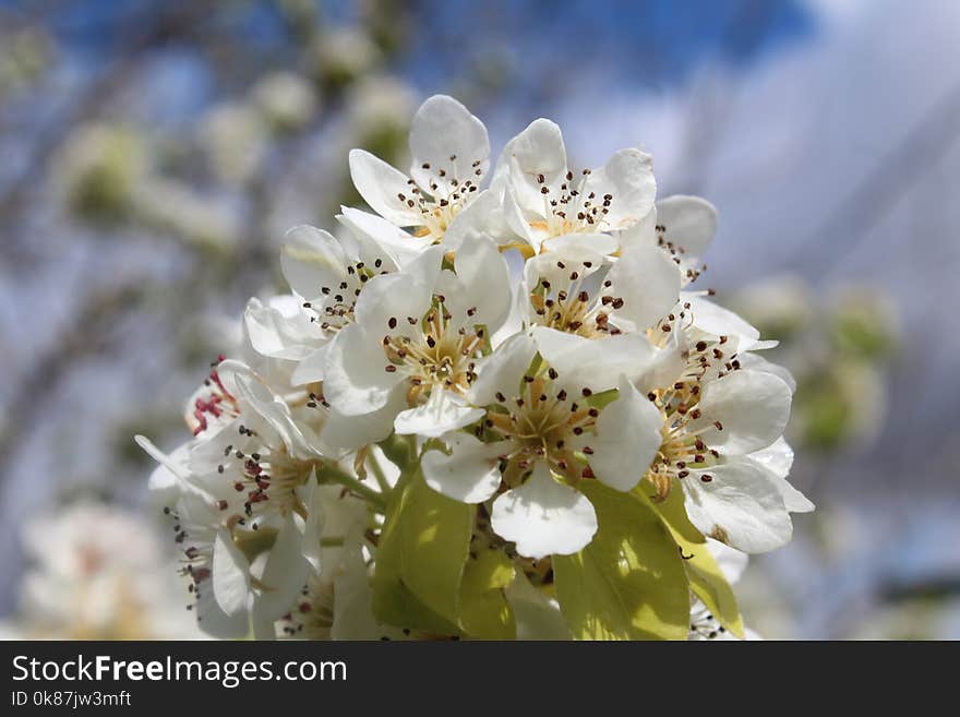
[[[451,454],[428,451],[421,466],[427,485],[447,498],[464,503],[481,503],[500,488],[500,461],[503,444],[483,443],[469,433],[452,433],[445,442]]]

